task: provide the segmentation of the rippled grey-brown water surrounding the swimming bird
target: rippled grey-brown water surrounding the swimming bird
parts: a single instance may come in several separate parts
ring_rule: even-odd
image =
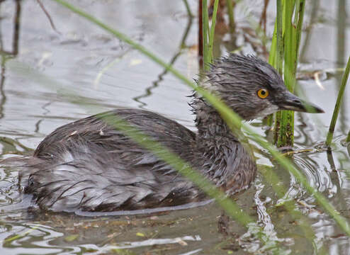
[[[187,101],[191,90],[162,67],[132,50],[112,35],[83,18],[43,1],[55,29],[37,1],[21,4],[18,55],[1,55],[0,149],[1,158],[30,154],[52,130],[72,120],[116,107],[144,108],[161,113],[195,130]],[[196,60],[198,19],[188,18],[183,1],[70,1],[101,18],[133,40],[153,50],[191,79],[198,73]],[[264,1],[241,1],[235,11],[236,40],[224,31],[215,42],[216,55],[236,49],[264,56],[255,26]],[[196,13],[196,1],[189,1]],[[273,29],[274,3],[267,12],[267,33]],[[349,1],[307,1],[305,30],[300,50],[299,94],[326,111],[322,115],[295,115],[294,161],[312,186],[349,220],[349,152],[342,145],[349,131],[346,109],[349,89],[339,115],[332,154],[317,148],[327,134],[341,75],[350,54]],[[13,44],[15,1],[1,2],[1,48],[16,50]],[[15,40],[16,41],[16,40]],[[74,94],[74,98],[72,95]],[[79,96],[77,96],[79,95]],[[72,100],[74,99],[74,100]],[[83,102],[84,105],[74,103]],[[261,120],[251,123],[267,136]],[[301,152],[306,150],[304,152]],[[16,169],[0,167],[1,254],[350,254],[349,238],[324,213],[290,174],[278,168],[264,150],[259,157],[259,174],[252,188],[235,198],[256,220],[248,229],[220,217],[211,203],[201,208],[155,215],[81,217],[50,212],[30,212],[18,193]],[[288,191],[278,198],[269,184],[273,166]],[[268,180],[268,181],[266,181]],[[300,222],[276,206],[291,200],[307,215],[315,231],[312,242],[305,238]],[[22,209],[21,209],[22,208]],[[218,225],[221,227],[218,228]],[[228,227],[227,233],[222,226]],[[257,238],[269,237],[266,244]],[[219,232],[218,229],[221,229]]]

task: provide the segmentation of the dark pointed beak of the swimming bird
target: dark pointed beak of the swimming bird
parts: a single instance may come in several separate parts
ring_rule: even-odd
[[[283,95],[283,98],[280,98],[278,101],[280,110],[300,111],[305,113],[324,113],[322,108],[313,103],[301,100],[298,96],[291,94],[289,91],[287,91]]]

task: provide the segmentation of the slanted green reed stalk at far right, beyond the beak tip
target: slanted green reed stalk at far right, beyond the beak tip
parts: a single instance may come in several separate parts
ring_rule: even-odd
[[[339,92],[338,92],[337,103],[335,103],[331,124],[329,125],[329,130],[328,130],[327,139],[326,139],[326,146],[327,147],[329,147],[331,145],[331,142],[332,142],[332,139],[333,139],[334,128],[335,128],[335,124],[337,123],[337,118],[338,118],[338,115],[339,115],[341,99],[344,96],[346,83],[347,83],[348,78],[349,78],[349,71],[350,71],[350,57],[349,57],[348,62],[346,64],[346,68],[345,68],[345,71],[344,71],[344,74],[343,74],[343,79],[341,79],[341,86],[340,86],[340,89],[339,89]],[[348,135],[348,137],[346,137],[346,141],[348,141],[348,140],[350,140],[349,135]]]

